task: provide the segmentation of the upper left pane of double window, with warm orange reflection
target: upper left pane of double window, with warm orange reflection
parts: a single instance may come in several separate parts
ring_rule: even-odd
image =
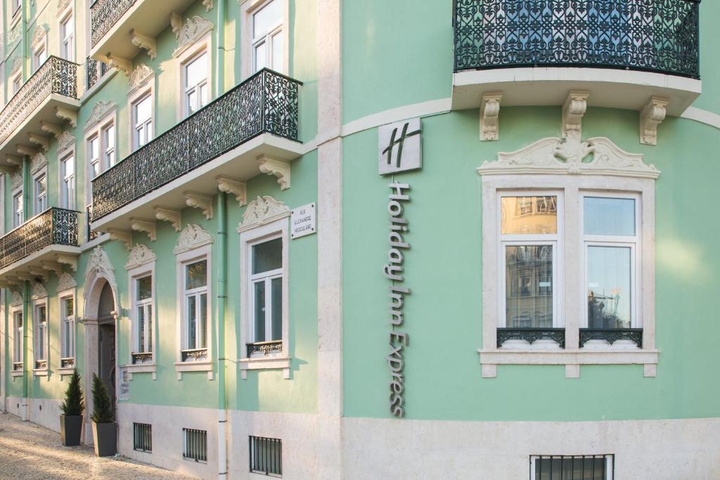
[[[503,196],[500,231],[509,235],[557,233],[557,196]]]

